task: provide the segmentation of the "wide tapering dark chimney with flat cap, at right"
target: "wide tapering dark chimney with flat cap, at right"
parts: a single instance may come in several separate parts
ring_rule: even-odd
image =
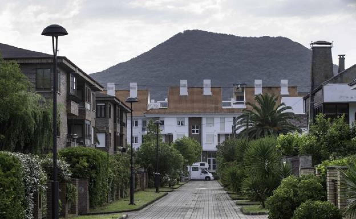
[[[321,83],[334,76],[331,48],[333,44],[326,41],[310,43],[312,46],[311,87],[314,90]]]

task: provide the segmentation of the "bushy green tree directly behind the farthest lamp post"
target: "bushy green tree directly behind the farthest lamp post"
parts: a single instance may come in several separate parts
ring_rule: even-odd
[[[182,169],[183,156],[179,151],[162,141],[161,130],[158,129],[158,160],[159,173],[161,176],[177,176],[177,172]],[[148,174],[153,177],[153,171],[156,169],[156,134],[157,126],[151,119],[147,124],[147,134],[143,137],[143,143],[137,149],[136,162],[145,167]]]

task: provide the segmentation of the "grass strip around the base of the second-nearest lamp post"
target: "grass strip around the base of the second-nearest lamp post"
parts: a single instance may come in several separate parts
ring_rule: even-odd
[[[144,204],[147,204],[150,201],[153,201],[159,197],[162,197],[166,194],[166,192],[152,192],[152,191],[139,191],[135,192],[135,204],[134,205],[129,205],[129,200],[130,198],[124,198],[115,202],[112,202],[111,204],[108,204],[107,206],[104,207],[98,207],[96,209],[91,209],[90,213],[96,213],[96,212],[115,212],[115,211],[127,211],[127,210],[134,210],[137,208],[140,208]]]

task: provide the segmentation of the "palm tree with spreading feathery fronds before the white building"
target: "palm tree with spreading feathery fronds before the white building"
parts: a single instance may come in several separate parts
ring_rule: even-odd
[[[290,106],[281,103],[277,105],[278,96],[259,94],[255,96],[257,105],[246,103],[252,109],[244,109],[242,115],[237,117],[236,130],[242,129],[241,137],[259,138],[264,136],[286,134],[288,132],[302,130],[291,124],[288,120],[297,119]]]

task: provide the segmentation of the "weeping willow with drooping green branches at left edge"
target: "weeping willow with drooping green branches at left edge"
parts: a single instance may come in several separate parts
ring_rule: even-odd
[[[52,106],[28,85],[19,65],[0,55],[0,150],[40,154],[52,147]]]

